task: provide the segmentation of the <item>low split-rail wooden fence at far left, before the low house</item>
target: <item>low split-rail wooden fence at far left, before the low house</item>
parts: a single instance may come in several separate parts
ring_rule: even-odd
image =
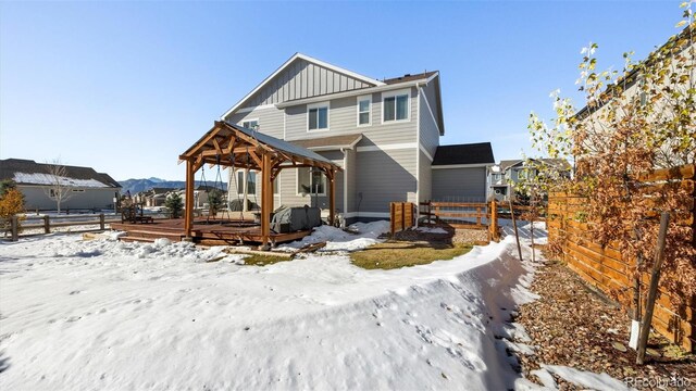
[[[109,218],[107,218],[109,217]],[[121,217],[114,215],[107,216],[103,213],[94,215],[69,215],[69,216],[26,216],[20,222],[17,215],[12,216],[9,220],[3,223],[10,223],[9,227],[4,230],[10,234],[12,241],[17,241],[20,238],[20,230],[24,229],[42,229],[44,234],[50,234],[52,228],[58,227],[74,227],[74,226],[98,226],[87,228],[85,230],[104,230],[107,224],[121,223]],[[38,223],[27,223],[38,222]],[[4,225],[4,224],[3,224]]]

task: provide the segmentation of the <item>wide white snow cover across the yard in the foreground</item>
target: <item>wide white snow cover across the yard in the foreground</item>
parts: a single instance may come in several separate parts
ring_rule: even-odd
[[[3,242],[0,388],[531,386],[505,352],[529,346],[500,339],[519,337],[505,320],[534,299],[513,237],[451,261],[365,270],[335,250],[373,243],[378,226],[357,237],[326,228],[306,242],[330,238],[332,253],[263,267],[240,255],[206,262],[224,253],[166,240]]]

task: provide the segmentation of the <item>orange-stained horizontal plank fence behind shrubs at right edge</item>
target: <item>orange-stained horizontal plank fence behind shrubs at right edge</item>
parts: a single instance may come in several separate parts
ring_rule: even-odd
[[[643,178],[650,186],[660,186],[659,181],[669,178],[680,180],[682,187],[689,188],[694,193],[694,173],[695,166],[688,165],[680,169],[656,171]],[[632,308],[635,281],[631,269],[636,260],[626,260],[614,245],[601,247],[592,240],[589,226],[584,222],[586,216],[583,205],[585,203],[584,198],[574,194],[549,194],[547,216],[549,242],[560,247],[562,260],[580,277],[606,293],[624,292],[619,294],[619,302],[625,308]],[[679,224],[692,228],[689,244],[694,245],[696,225],[693,198],[691,204],[685,207],[688,209],[691,217],[680,219]],[[648,274],[642,274],[642,291],[649,283],[649,279]],[[660,290],[660,293],[655,304],[652,327],[686,350],[694,351],[696,348],[696,298],[682,298],[683,304],[675,307],[668,292]]]

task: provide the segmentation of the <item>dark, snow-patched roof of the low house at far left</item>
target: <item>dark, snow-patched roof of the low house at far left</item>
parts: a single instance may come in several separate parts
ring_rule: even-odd
[[[50,164],[36,163],[24,159],[0,160],[0,180],[11,179],[17,185],[50,185]],[[108,174],[97,173],[91,167],[65,166],[64,185],[84,188],[121,188]]]

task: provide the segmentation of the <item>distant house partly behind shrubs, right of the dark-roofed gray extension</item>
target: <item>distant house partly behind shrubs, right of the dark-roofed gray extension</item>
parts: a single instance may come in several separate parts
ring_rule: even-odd
[[[540,159],[546,165],[556,166],[556,169],[570,178],[572,167],[563,159]],[[515,200],[514,188],[527,178],[535,178],[537,169],[527,166],[524,160],[505,160],[488,168],[489,194],[498,201]]]

